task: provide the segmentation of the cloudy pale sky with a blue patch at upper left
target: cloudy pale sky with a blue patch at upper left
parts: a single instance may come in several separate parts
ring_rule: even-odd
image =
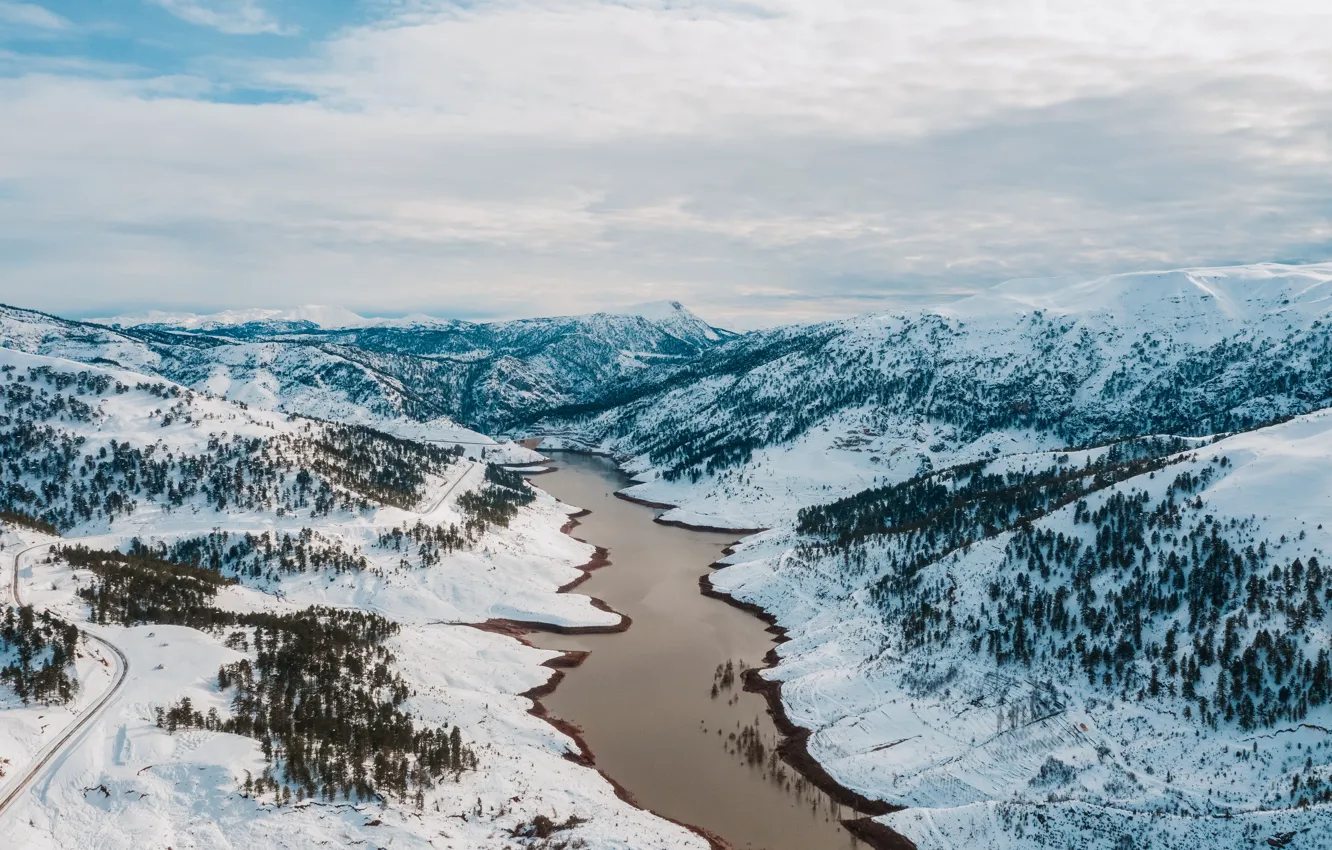
[[[0,0],[0,301],[746,329],[1323,261],[1329,32],[1292,0]]]

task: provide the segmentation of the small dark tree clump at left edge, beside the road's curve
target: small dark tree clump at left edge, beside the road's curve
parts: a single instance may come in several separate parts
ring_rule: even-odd
[[[79,693],[73,674],[79,629],[31,605],[7,608],[0,622],[0,683],[24,705],[64,705]]]

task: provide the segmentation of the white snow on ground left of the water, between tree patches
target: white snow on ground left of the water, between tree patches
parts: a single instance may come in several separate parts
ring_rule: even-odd
[[[121,369],[0,350],[0,362],[15,366],[49,365],[57,370],[105,370],[133,386],[144,376]],[[189,408],[196,422],[163,426],[153,409],[161,400],[136,390],[111,393],[100,402],[95,422],[59,422],[73,433],[104,442],[160,445],[172,450],[206,442],[209,429],[270,436],[302,426],[300,420],[273,417],[205,396]],[[197,424],[206,426],[196,426]],[[93,444],[96,445],[96,442]],[[509,444],[497,446],[515,456],[529,453]],[[537,456],[539,457],[539,456]],[[132,517],[112,525],[88,524],[63,542],[121,546],[129,537],[174,540],[206,534],[217,528],[233,533],[314,528],[328,540],[360,546],[372,568],[360,573],[297,573],[276,585],[225,589],[217,604],[232,610],[290,612],[308,605],[334,605],[377,612],[402,624],[390,641],[396,666],[413,687],[409,709],[422,722],[458,723],[476,743],[481,770],[446,781],[426,795],[422,811],[396,802],[385,805],[325,805],[305,802],[276,807],[241,795],[245,774],[258,775],[264,759],[249,738],[188,730],[166,734],[155,711],[180,697],[206,711],[228,713],[228,699],[216,686],[220,665],[241,657],[218,636],[180,626],[109,626],[87,622],[87,605],[76,589],[89,581],[61,561],[25,558],[20,580],[24,601],[51,610],[105,638],[124,651],[129,675],[105,709],[80,730],[75,742],[39,774],[11,810],[4,831],[11,846],[32,849],[99,847],[320,847],[370,843],[396,847],[511,847],[509,830],[537,814],[563,821],[586,819],[565,833],[597,850],[702,850],[693,833],[621,801],[595,770],[570,761],[577,745],[546,721],[530,714],[522,693],[551,675],[546,662],[558,657],[513,637],[492,634],[466,624],[490,618],[525,620],[557,626],[607,626],[619,616],[591,606],[585,596],[558,589],[579,576],[577,569],[593,548],[561,532],[575,508],[538,493],[507,528],[488,532],[470,550],[446,556],[432,568],[402,568],[398,553],[376,546],[382,530],[425,521],[461,520],[457,497],[482,482],[482,465],[458,461],[437,481],[420,510],[380,508],[370,514],[276,517],[273,514],[177,509],[163,512],[144,504]],[[31,533],[7,532],[0,566],[12,565],[20,544],[43,541]],[[5,572],[5,582],[12,570]],[[332,580],[330,580],[332,578]],[[95,646],[95,645],[89,645]],[[79,699],[45,709],[0,702],[0,758],[19,777],[53,735],[109,685],[108,667],[89,649],[77,665]]]

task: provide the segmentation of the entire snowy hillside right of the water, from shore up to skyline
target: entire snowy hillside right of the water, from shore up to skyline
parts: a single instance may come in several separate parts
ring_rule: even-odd
[[[919,847],[1332,841],[1332,266],[1014,281],[551,413],[746,538],[810,754]],[[1275,843],[1272,843],[1275,842]]]

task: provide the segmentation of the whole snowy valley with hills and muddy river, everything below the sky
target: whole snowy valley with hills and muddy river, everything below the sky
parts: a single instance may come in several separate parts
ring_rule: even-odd
[[[1177,269],[746,334],[4,308],[0,817],[1327,846],[1329,293]]]

